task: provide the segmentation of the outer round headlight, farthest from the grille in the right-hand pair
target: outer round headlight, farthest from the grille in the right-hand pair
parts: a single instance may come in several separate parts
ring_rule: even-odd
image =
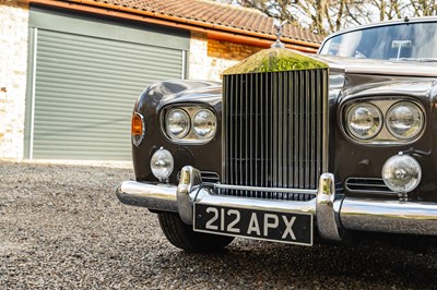
[[[400,101],[387,112],[387,128],[398,138],[413,138],[417,136],[424,125],[424,114],[417,105],[410,101]]]

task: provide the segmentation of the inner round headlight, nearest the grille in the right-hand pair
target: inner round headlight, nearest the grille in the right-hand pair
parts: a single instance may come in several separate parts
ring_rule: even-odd
[[[349,132],[362,140],[375,137],[382,128],[382,113],[375,105],[364,102],[353,106],[347,112]]]

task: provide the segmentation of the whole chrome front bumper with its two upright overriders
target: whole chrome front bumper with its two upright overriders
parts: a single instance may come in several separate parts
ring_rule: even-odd
[[[178,213],[187,225],[193,223],[193,203],[243,209],[309,214],[319,235],[341,241],[343,230],[437,235],[437,205],[425,202],[377,198],[335,198],[334,177],[323,173],[316,198],[307,202],[252,200],[213,194],[221,184],[202,183],[200,171],[186,166],[179,184],[125,181],[116,190],[127,205],[157,212]],[[257,190],[257,189],[253,189]]]

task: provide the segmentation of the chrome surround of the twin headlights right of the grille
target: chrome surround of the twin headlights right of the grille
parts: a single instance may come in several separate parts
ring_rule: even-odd
[[[375,134],[373,135],[364,135],[361,136],[356,132],[354,132],[354,128],[351,125],[351,116],[354,116],[354,111],[361,107],[364,108],[378,108],[381,113],[380,119],[380,128],[379,132],[376,133],[378,130],[375,130]],[[370,107],[367,107],[370,106]],[[397,134],[395,130],[390,125],[390,120],[395,121],[393,119],[393,110],[395,108],[410,108],[412,109],[413,116],[420,116],[420,121],[417,123],[411,122],[413,125],[412,131],[408,131],[410,134],[405,134],[402,136],[401,134]],[[412,97],[402,97],[402,96],[359,96],[359,98],[354,98],[346,100],[341,105],[342,117],[342,129],[343,133],[354,143],[358,144],[366,144],[366,145],[374,145],[374,146],[383,146],[383,145],[395,145],[395,144],[410,144],[418,140],[423,132],[425,131],[426,126],[426,110],[424,106],[417,101],[415,98]],[[390,113],[390,114],[389,114]],[[366,114],[365,114],[366,116]],[[399,116],[399,112],[398,112]],[[389,119],[390,118],[390,119]],[[399,119],[399,118],[398,118]],[[401,123],[402,124],[402,123]],[[359,129],[359,126],[358,126]]]

